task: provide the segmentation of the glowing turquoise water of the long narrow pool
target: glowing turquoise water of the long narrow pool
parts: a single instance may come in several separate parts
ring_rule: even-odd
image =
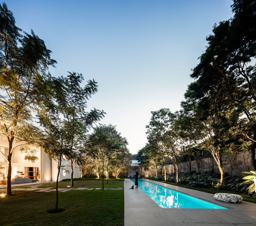
[[[139,180],[138,184],[139,188],[162,208],[226,209],[144,180]]]

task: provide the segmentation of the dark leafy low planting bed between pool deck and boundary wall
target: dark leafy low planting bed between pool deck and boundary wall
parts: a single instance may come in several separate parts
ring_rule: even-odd
[[[157,177],[148,178],[159,182],[164,182],[164,175],[158,175]],[[220,175],[209,172],[199,173],[180,173],[179,183],[176,183],[176,177],[174,174],[166,175],[166,181],[172,185],[180,186],[183,188],[189,188],[197,191],[204,191],[208,193],[235,193],[241,195],[244,201],[256,203],[256,195],[248,195],[246,188],[248,184],[242,184],[244,180],[241,177],[230,177],[227,174],[224,177],[223,185],[220,185]]]

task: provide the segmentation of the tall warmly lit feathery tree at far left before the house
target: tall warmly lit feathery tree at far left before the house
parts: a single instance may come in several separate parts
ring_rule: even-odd
[[[0,5],[0,134],[9,143],[8,154],[1,152],[8,162],[7,195],[12,195],[12,152],[22,144],[32,144],[39,136],[34,125],[34,109],[39,104],[47,108],[51,101],[51,75],[54,66],[51,51],[33,30],[31,34],[15,26],[15,19],[5,3]],[[48,110],[51,109],[48,107]],[[26,147],[25,145],[25,147]],[[24,147],[24,145],[23,145]],[[33,153],[31,155],[32,159]]]

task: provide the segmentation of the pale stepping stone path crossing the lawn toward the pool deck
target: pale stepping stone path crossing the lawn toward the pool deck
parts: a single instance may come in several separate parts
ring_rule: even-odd
[[[56,191],[56,189],[52,188],[52,187],[48,187],[48,188],[42,188],[39,186],[48,186],[48,185],[33,185],[30,186],[28,188],[21,187],[21,188],[12,188],[12,191],[36,191],[36,192],[50,192],[50,191]],[[58,191],[60,192],[66,192],[66,191],[70,191],[70,190],[79,190],[79,191],[88,191],[88,190],[101,190],[102,188],[58,188]],[[104,188],[104,189],[108,189],[108,190],[122,190],[123,187],[120,188]],[[6,191],[6,189],[0,189],[0,191]]]

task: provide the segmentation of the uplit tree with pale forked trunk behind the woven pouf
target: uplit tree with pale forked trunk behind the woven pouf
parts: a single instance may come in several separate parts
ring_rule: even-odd
[[[182,105],[197,120],[201,128],[201,146],[207,149],[220,170],[220,184],[223,182],[224,166],[222,156],[230,152],[233,128],[240,116],[221,85],[206,94],[202,94],[204,83],[200,80],[192,82],[185,93],[186,102]]]

